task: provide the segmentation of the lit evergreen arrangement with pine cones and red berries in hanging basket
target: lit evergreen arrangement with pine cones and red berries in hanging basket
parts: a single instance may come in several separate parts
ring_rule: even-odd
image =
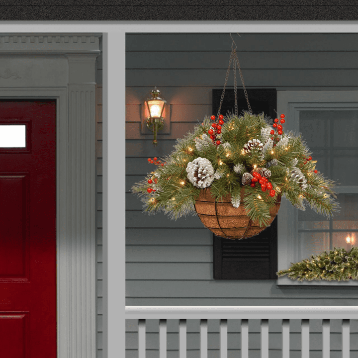
[[[195,199],[205,187],[216,201],[229,193],[233,206],[244,205],[260,226],[267,226],[279,194],[298,209],[308,204],[329,217],[339,207],[332,190],[335,183],[315,169],[301,135],[283,133],[284,118],[281,114],[272,121],[249,112],[206,117],[177,140],[169,156],[149,158],[157,169],[132,191],[142,196],[144,211],[162,210],[174,219],[195,214]],[[243,186],[245,199],[240,203]]]

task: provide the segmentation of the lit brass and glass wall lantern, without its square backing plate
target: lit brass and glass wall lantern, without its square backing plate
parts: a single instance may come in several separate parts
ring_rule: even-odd
[[[164,119],[166,117],[166,103],[167,101],[160,98],[160,90],[155,87],[151,91],[151,98],[144,101],[144,118],[147,128],[153,132],[154,146],[157,146],[157,133],[164,125]]]

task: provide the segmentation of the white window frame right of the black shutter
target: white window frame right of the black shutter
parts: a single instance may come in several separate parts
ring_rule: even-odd
[[[277,91],[277,113],[286,116],[285,132],[299,133],[300,110],[358,110],[358,90],[302,90]],[[330,178],[333,179],[334,178]],[[358,193],[356,186],[337,186],[337,193]],[[311,210],[307,208],[307,210]],[[278,270],[288,269],[294,263],[293,250],[298,240],[298,210],[282,198],[277,221]],[[277,277],[278,285],[357,286],[358,281],[298,281],[287,276]]]

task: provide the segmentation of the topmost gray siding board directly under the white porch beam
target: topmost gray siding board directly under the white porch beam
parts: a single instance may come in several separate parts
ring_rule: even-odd
[[[317,52],[358,51],[357,33],[236,33],[231,34],[237,52]],[[190,63],[192,51],[230,51],[232,40],[228,33],[142,33],[126,34],[126,51],[186,52]],[[241,56],[239,56],[240,60]],[[143,58],[145,62],[145,57]],[[229,63],[229,56],[225,63]],[[126,62],[126,66],[130,64]]]

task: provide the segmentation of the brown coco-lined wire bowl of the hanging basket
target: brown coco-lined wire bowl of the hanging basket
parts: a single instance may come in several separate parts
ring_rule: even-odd
[[[261,227],[258,222],[251,220],[247,215],[243,204],[244,188],[241,189],[240,202],[242,204],[235,208],[231,203],[230,194],[223,197],[222,202],[216,202],[211,196],[210,188],[205,188],[200,191],[195,201],[195,211],[204,226],[215,235],[232,240],[247,239],[261,233],[267,226]],[[271,219],[268,226],[276,217],[280,203],[281,195],[278,195],[275,206],[269,210]]]

